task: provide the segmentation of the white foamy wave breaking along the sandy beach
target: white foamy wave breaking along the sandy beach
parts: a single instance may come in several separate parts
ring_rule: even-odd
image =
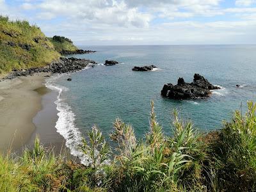
[[[63,75],[49,77],[45,83],[47,88],[58,91],[58,97],[54,103],[56,104],[57,110],[59,111],[57,114],[59,118],[55,127],[57,132],[59,132],[65,139],[65,145],[70,149],[70,154],[79,157],[81,163],[87,165],[89,163],[89,158],[78,149],[79,145],[81,145],[83,136],[79,129],[76,127],[76,115],[73,113],[71,107],[68,106],[68,104],[65,102],[65,99],[61,97],[63,91],[65,92],[68,89],[54,83],[54,81],[56,81],[61,76]]]

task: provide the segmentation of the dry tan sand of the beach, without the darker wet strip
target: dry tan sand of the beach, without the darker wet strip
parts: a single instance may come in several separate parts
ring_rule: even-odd
[[[0,82],[0,150],[19,149],[36,127],[33,117],[42,109],[45,73]],[[54,124],[52,124],[54,126]],[[51,125],[51,127],[52,127]]]

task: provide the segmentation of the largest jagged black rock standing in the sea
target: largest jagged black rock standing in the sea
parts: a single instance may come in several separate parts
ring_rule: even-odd
[[[195,74],[192,83],[186,83],[183,78],[179,78],[176,85],[164,84],[161,95],[170,99],[196,99],[209,97],[211,90],[216,89],[220,87],[212,85],[203,76]]]

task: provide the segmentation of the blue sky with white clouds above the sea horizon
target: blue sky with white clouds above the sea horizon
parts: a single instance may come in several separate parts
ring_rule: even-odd
[[[256,0],[0,0],[77,45],[256,44]]]

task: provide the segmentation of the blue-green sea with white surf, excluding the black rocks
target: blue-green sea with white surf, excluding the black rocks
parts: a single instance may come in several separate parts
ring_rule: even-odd
[[[76,145],[95,124],[106,138],[113,131],[116,117],[131,124],[138,138],[148,131],[150,100],[155,102],[159,124],[172,134],[172,111],[191,120],[195,127],[208,132],[220,129],[246,101],[255,100],[256,45],[150,45],[80,46],[97,51],[74,55],[99,63],[80,72],[54,76],[48,86],[59,92],[56,100],[59,119],[56,129],[76,154]],[[122,64],[102,65],[105,60]],[[134,72],[132,67],[156,65],[152,72]],[[207,99],[171,100],[161,97],[165,83],[177,83],[179,77],[193,81],[195,73],[221,86]],[[72,81],[67,81],[72,77]],[[241,84],[240,88],[236,84]]]

